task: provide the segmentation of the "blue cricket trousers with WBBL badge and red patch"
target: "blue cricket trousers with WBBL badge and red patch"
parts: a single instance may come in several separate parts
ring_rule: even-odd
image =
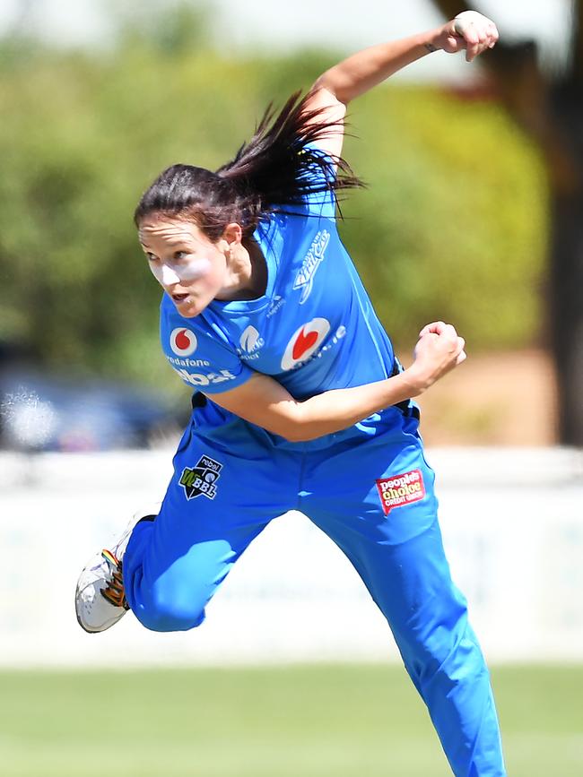
[[[388,408],[291,444],[212,402],[193,413],[155,521],[135,527],[126,597],[147,628],[199,626],[251,540],[297,509],[350,559],[387,618],[458,777],[506,774],[488,669],[452,583],[418,420]]]

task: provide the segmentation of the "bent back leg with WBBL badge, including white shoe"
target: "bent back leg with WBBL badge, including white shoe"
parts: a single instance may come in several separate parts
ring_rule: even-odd
[[[85,631],[114,626],[127,609],[155,631],[199,626],[251,540],[296,506],[300,457],[242,422],[226,426],[197,418],[178,445],[157,514],[135,515],[117,542],[85,565],[75,592]]]

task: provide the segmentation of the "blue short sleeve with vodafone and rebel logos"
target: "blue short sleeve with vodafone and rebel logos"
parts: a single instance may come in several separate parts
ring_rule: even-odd
[[[170,367],[187,386],[207,394],[230,391],[246,383],[253,370],[229,347],[222,332],[199,319],[182,318],[164,295],[160,334]]]

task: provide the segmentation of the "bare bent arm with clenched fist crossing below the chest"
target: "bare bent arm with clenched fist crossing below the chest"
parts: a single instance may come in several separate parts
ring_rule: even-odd
[[[305,401],[274,378],[257,373],[231,391],[213,394],[216,404],[292,442],[306,442],[366,419],[374,412],[418,396],[466,358],[465,341],[450,324],[422,329],[412,367],[376,383],[334,389]]]

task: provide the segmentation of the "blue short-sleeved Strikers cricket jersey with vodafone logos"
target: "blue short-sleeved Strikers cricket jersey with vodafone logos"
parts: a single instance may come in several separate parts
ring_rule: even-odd
[[[331,192],[263,220],[265,295],[213,300],[195,318],[161,303],[161,343],[186,384],[204,394],[273,376],[297,400],[382,380],[394,354],[336,229]]]

